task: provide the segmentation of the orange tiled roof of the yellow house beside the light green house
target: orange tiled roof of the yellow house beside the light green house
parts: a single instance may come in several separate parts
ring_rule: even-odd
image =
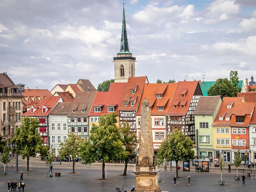
[[[234,103],[231,108],[228,108],[227,104],[230,102]],[[233,111],[236,109],[236,106],[242,102],[244,102],[244,97],[223,97],[220,109],[214,122],[212,123],[212,126],[230,126],[232,116],[231,119],[226,121],[226,115],[228,114],[227,117],[230,117],[230,114],[233,113]],[[223,117],[223,120],[219,120],[219,117]]]

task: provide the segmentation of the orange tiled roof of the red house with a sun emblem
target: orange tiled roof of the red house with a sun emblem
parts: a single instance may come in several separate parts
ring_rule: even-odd
[[[240,103],[232,113],[231,124],[232,127],[248,127],[251,120],[251,115],[256,103]],[[243,123],[236,123],[236,116],[244,116]]]

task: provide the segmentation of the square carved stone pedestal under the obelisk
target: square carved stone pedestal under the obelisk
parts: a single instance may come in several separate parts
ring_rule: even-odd
[[[158,172],[156,171],[133,171],[136,175],[136,192],[161,192],[158,187]]]

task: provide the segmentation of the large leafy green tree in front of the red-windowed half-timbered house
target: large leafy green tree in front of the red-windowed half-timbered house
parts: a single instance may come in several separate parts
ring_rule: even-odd
[[[11,140],[15,144],[13,151],[22,154],[22,159],[27,158],[27,171],[29,171],[29,157],[36,157],[36,153],[40,153],[39,146],[43,145],[43,139],[37,130],[39,126],[37,118],[26,116]]]

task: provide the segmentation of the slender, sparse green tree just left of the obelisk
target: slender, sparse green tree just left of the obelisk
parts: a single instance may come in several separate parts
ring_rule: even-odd
[[[127,121],[123,123],[123,127],[120,127],[121,133],[121,141],[124,145],[124,157],[123,160],[125,162],[124,165],[124,173],[123,175],[127,174],[127,165],[130,160],[134,159],[138,155],[137,145],[138,140],[136,133],[130,132],[130,125]]]

